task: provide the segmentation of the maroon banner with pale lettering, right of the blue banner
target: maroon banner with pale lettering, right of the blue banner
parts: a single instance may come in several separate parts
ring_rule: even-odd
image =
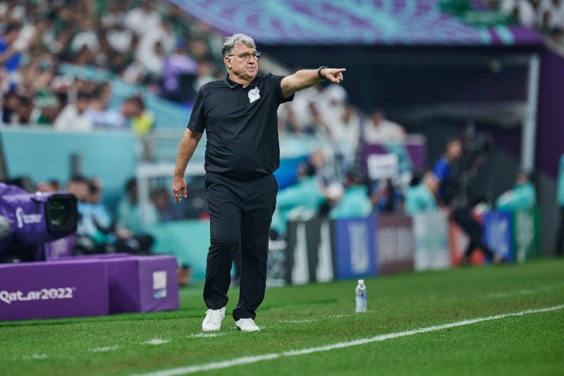
[[[415,234],[411,217],[403,214],[376,217],[376,260],[380,274],[413,270]]]

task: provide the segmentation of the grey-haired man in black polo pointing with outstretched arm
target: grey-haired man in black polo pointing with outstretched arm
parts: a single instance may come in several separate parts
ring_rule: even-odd
[[[241,276],[235,327],[259,330],[255,310],[264,299],[269,227],[280,165],[278,106],[295,92],[328,79],[343,81],[344,68],[305,69],[288,75],[258,74],[255,41],[243,34],[227,37],[221,49],[226,78],[207,83],[195,99],[180,141],[173,176],[176,202],[187,196],[184,173],[204,130],[204,168],[210,217],[204,302],[209,308],[202,330],[219,330],[225,316],[233,253],[240,249]]]

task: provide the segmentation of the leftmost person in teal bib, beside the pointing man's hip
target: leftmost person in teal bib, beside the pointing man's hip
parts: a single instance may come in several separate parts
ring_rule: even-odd
[[[324,191],[311,162],[298,166],[298,183],[284,188],[276,196],[276,210],[272,215],[271,237],[286,236],[288,219],[313,216],[325,202]]]

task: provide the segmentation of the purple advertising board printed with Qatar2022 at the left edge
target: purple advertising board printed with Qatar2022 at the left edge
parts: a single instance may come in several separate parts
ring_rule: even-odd
[[[108,302],[99,260],[0,265],[0,320],[107,315]]]

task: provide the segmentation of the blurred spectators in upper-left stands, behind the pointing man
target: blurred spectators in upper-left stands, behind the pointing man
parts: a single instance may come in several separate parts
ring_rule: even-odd
[[[128,128],[145,112],[142,97],[109,108],[111,83],[62,74],[64,63],[109,71],[180,104],[223,75],[214,54],[221,48],[210,48],[221,46],[219,34],[164,1],[8,0],[0,4],[0,35],[5,125]],[[141,132],[151,123],[142,117]]]

